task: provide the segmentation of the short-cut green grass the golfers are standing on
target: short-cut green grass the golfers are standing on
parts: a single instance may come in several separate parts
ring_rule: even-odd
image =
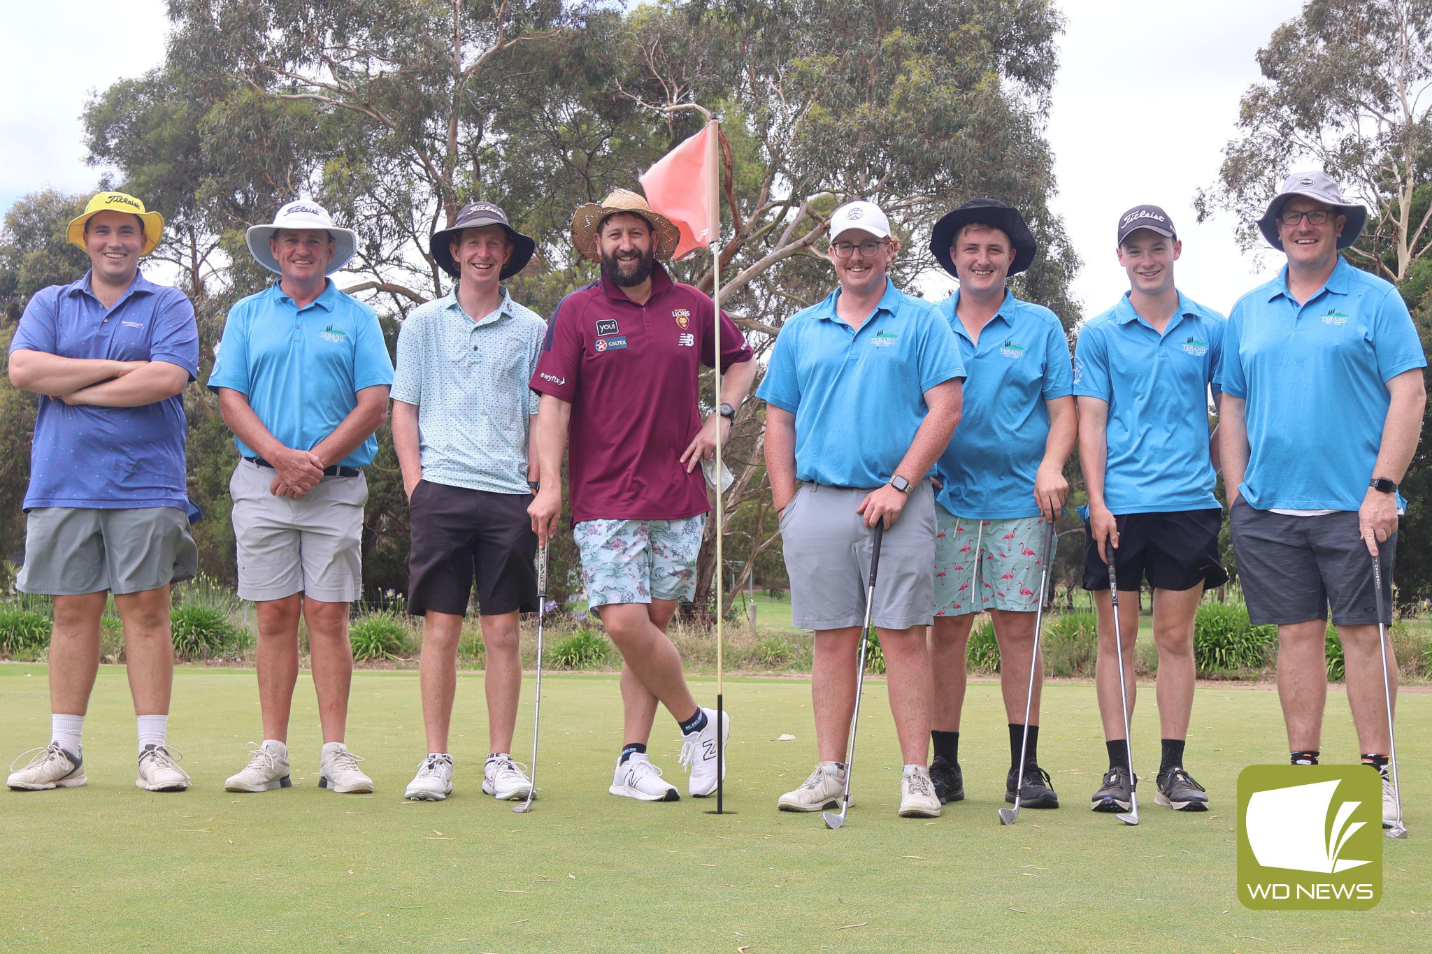
[[[696,681],[705,702],[712,681]],[[1372,911],[1254,913],[1234,895],[1234,785],[1286,758],[1277,694],[1201,685],[1189,767],[1213,810],[1153,805],[1157,721],[1141,688],[1134,765],[1143,824],[1088,811],[1106,765],[1091,685],[1047,685],[1041,762],[1064,804],[1002,828],[1008,765],[998,685],[969,687],[961,761],[968,800],[937,821],[895,815],[899,754],[885,684],[866,681],[855,805],[841,831],[776,812],[815,762],[809,684],[727,679],[727,808],[607,794],[620,748],[613,675],[544,678],[540,797],[530,815],[478,792],[481,674],[458,681],[455,792],[410,804],[424,754],[415,672],[354,677],[348,742],[371,797],[316,787],[318,718],[304,674],[289,749],[294,788],[222,791],[259,737],[251,669],[180,668],[169,738],[193,788],[135,788],[125,672],[103,667],[86,724],[89,785],[0,792],[6,875],[0,948],[84,951],[1423,951],[1432,924],[1432,695],[1399,704],[1412,837],[1385,841]],[[44,667],[0,665],[7,757],[47,737]],[[526,761],[531,684],[517,758]],[[1207,728],[1206,728],[1207,727]],[[780,734],[795,741],[775,741]],[[659,714],[652,758],[682,787],[679,737]],[[1346,697],[1332,692],[1325,761],[1356,758]]]

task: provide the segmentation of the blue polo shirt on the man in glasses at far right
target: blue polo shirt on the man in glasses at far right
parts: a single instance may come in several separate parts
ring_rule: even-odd
[[[1219,383],[1247,402],[1239,493],[1260,511],[1360,508],[1392,403],[1386,382],[1426,363],[1389,282],[1339,257],[1299,306],[1285,266],[1239,299],[1224,332]]]

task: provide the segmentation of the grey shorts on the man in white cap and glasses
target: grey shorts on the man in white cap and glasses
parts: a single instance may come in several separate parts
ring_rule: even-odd
[[[780,515],[790,619],[800,629],[865,622],[875,532],[855,508],[869,491],[802,483]],[[921,481],[881,542],[871,618],[885,629],[928,626],[935,614],[935,493]]]

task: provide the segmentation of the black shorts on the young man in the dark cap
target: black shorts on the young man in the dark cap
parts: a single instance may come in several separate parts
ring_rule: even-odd
[[[1121,591],[1138,589],[1147,579],[1153,589],[1204,589],[1221,586],[1229,575],[1219,561],[1223,508],[1171,513],[1118,513],[1118,549],[1114,572]],[[1084,589],[1108,589],[1108,564],[1084,526]]]

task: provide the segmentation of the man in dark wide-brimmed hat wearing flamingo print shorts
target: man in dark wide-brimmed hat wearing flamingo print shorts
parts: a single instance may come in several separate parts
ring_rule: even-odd
[[[1048,559],[1045,528],[1068,496],[1064,462],[1078,431],[1068,339],[1058,315],[1021,302],[1005,286],[1038,250],[1018,209],[998,199],[971,199],[935,223],[929,250],[959,279],[939,313],[969,372],[959,428],[937,465],[942,486],[929,631],[935,671],[929,775],[942,802],[965,797],[959,771],[965,651],[977,614],[988,612],[1010,725],[1005,801],[1014,801],[1018,787],[1022,807],[1058,808],[1038,762],[1042,667],[1034,659],[1034,624],[1045,598],[1040,592]],[[1031,667],[1038,667],[1040,678],[1027,699]]]

